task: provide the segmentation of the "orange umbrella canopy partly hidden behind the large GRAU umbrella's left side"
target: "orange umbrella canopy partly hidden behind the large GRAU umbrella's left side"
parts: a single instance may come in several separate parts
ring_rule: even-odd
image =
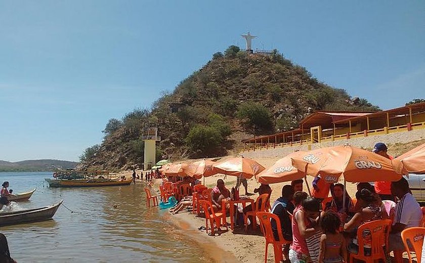
[[[292,166],[292,159],[304,156],[306,152],[293,152],[282,159],[277,160],[273,166],[256,175],[257,182],[262,184],[275,184],[288,182],[305,177],[304,171],[301,171]]]

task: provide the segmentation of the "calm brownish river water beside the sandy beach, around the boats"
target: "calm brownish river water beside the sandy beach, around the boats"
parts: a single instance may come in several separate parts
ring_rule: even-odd
[[[37,187],[19,207],[63,199],[75,211],[60,206],[51,221],[0,227],[18,262],[211,262],[164,211],[146,208],[143,185],[60,189],[43,187],[44,178],[52,172],[0,173],[14,193]]]

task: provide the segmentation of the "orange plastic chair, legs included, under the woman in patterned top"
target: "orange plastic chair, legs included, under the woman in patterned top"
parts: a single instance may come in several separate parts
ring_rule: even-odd
[[[382,247],[382,240],[385,240],[385,246],[388,246],[388,239],[390,236],[391,220],[375,220],[365,223],[357,229],[357,240],[359,241],[359,253],[350,253],[350,262],[353,259],[363,260],[366,263],[373,263],[377,259],[386,259],[384,248]],[[364,254],[364,239],[362,238],[363,231],[369,230],[371,235],[371,255]]]

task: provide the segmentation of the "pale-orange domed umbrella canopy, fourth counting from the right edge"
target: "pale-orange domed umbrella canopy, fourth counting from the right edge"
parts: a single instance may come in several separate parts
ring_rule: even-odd
[[[228,176],[240,176],[246,179],[250,179],[265,169],[257,161],[244,157],[233,157],[215,164],[214,167],[216,167],[217,173],[224,173]]]

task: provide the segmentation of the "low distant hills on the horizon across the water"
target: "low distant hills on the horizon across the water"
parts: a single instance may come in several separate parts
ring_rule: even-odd
[[[8,162],[0,160],[0,171],[54,171],[59,169],[73,169],[78,162],[61,160],[25,160]]]

